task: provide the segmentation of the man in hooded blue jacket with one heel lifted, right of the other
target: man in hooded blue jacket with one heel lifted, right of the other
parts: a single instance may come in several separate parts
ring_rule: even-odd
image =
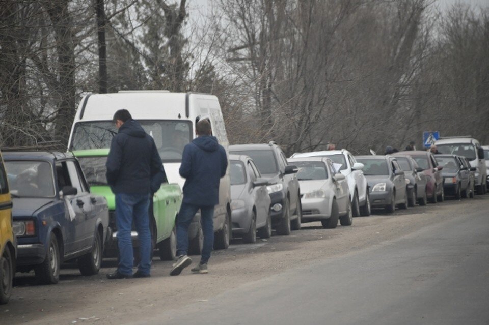
[[[170,275],[179,275],[192,263],[187,256],[188,227],[200,209],[204,245],[200,263],[194,273],[207,273],[207,261],[214,244],[214,205],[219,203],[219,183],[226,174],[228,158],[224,147],[211,135],[208,120],[196,124],[197,138],[185,145],[180,165],[180,176],[185,178],[183,200],[177,218],[177,255]]]

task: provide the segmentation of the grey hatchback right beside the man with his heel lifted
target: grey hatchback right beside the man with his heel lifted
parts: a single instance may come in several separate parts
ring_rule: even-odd
[[[256,242],[271,235],[270,196],[267,180],[261,177],[253,159],[246,155],[229,155],[231,168],[231,223],[233,234],[244,243]]]

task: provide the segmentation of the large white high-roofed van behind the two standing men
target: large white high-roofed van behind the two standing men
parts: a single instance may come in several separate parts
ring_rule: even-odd
[[[150,134],[158,149],[169,183],[183,188],[179,175],[183,147],[196,137],[195,124],[209,119],[212,134],[228,151],[228,138],[218,98],[196,93],[168,91],[121,91],[91,94],[82,98],[71,129],[68,150],[110,147],[117,133],[112,118],[119,109],[127,109],[134,120]],[[219,188],[219,204],[214,211],[214,248],[225,249],[231,237],[231,185],[229,167]],[[199,254],[203,243],[200,216],[189,229],[189,253]]]

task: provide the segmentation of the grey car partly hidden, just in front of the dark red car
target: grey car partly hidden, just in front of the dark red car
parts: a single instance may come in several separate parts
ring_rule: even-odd
[[[408,204],[409,206],[426,205],[428,197],[426,194],[426,175],[423,168],[418,166],[418,163],[409,155],[396,156],[399,166],[408,182]]]

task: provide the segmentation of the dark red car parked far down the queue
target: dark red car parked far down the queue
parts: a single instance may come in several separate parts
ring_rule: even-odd
[[[416,160],[419,167],[423,168],[426,175],[426,195],[431,203],[443,202],[445,199],[443,191],[442,166],[438,165],[436,158],[429,151],[401,151],[393,156],[410,155]]]

